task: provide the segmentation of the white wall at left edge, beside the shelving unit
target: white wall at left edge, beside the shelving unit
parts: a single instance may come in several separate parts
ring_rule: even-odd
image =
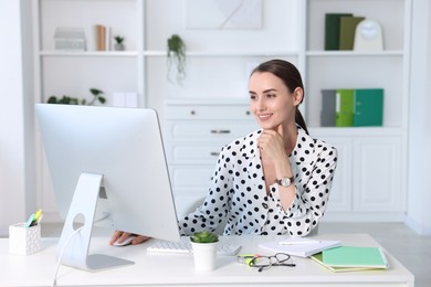
[[[31,36],[24,2],[0,1],[0,233],[34,209]],[[24,21],[21,21],[23,19]],[[28,29],[31,32],[30,29]]]

